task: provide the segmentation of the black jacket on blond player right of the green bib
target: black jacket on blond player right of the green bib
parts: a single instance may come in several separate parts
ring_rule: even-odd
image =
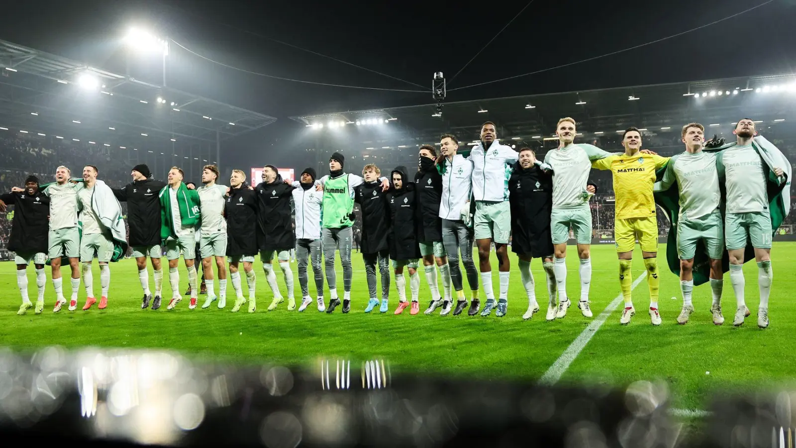
[[[362,253],[377,253],[389,249],[390,210],[389,191],[381,191],[378,181],[366,182],[354,188],[354,201],[362,210]]]

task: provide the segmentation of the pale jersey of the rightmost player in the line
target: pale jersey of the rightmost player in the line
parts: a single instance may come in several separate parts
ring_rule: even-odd
[[[727,186],[727,213],[768,210],[763,160],[751,145],[736,145],[721,151],[719,168],[724,167]]]

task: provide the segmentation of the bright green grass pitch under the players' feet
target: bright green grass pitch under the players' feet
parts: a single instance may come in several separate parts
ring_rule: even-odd
[[[638,252],[638,250],[637,250]],[[661,246],[661,253],[665,247]],[[723,326],[712,324],[710,289],[702,285],[694,290],[696,312],[689,324],[677,325],[675,318],[681,308],[677,276],[661,265],[659,308],[663,317],[660,327],[650,325],[646,309],[649,293],[646,280],[634,289],[636,316],[628,326],[619,324],[622,307],[608,316],[594,337],[560,377],[560,383],[601,383],[622,386],[638,379],[661,379],[673,392],[673,404],[686,409],[704,409],[715,394],[746,392],[760,388],[792,385],[796,357],[792,344],[796,334],[796,306],[791,297],[796,291],[796,243],[779,242],[772,251],[774,284],[770,301],[771,326],[760,330],[756,325],[758,308],[757,266],[748,262],[746,275],[747,305],[752,315],[742,328],[732,327],[736,299],[729,276],[724,276]],[[593,246],[591,309],[595,318],[619,294],[618,265],[613,246]],[[165,259],[164,259],[165,260]],[[661,259],[662,260],[662,257]],[[168,273],[164,275],[163,306],[158,311],[142,310],[142,291],[135,261],[125,260],[111,265],[111,293],[108,308],[80,311],[85,299],[80,286],[78,310],[52,312],[53,286],[47,268],[45,312],[39,316],[31,308],[27,315],[17,316],[21,303],[14,264],[0,263],[0,344],[18,350],[35,350],[45,345],[60,344],[67,348],[84,346],[119,348],[176,349],[196,358],[232,360],[252,364],[268,360],[284,364],[312,367],[321,357],[341,357],[359,365],[376,357],[388,360],[392,371],[420,372],[474,379],[538,379],[564,353],[591,323],[573,305],[563,320],[546,322],[547,293],[540,261],[533,261],[537,283],[537,299],[541,309],[533,320],[522,320],[527,307],[525,291],[517,271],[517,258],[512,254],[512,277],[509,289],[509,314],[497,318],[480,316],[423,316],[429,300],[422,270],[421,314],[392,315],[398,300],[394,282],[391,286],[390,312],[380,314],[378,308],[363,312],[368,301],[365,270],[361,254],[353,253],[352,311],[345,315],[338,308],[332,315],[320,313],[315,305],[306,312],[288,312],[285,304],[273,312],[262,268],[256,266],[258,311],[230,312],[235,293],[228,285],[227,308],[193,311],[188,297],[173,311],[166,311],[171,296]],[[573,302],[579,297],[578,260],[575,248],[568,257],[568,293]],[[295,271],[295,263],[292,265]],[[497,264],[494,266],[494,290],[497,293]],[[100,273],[95,264],[94,290],[100,293]],[[149,266],[151,273],[151,266]],[[64,270],[68,278],[68,270]],[[643,273],[641,253],[634,258],[634,279]],[[33,301],[36,284],[29,268],[29,292]],[[185,293],[187,274],[181,266],[181,293]],[[64,279],[64,293],[69,297],[69,283]],[[277,281],[285,290],[281,271]],[[242,279],[244,289],[245,278]],[[338,285],[342,273],[338,269]],[[440,287],[442,282],[440,280]],[[154,283],[150,281],[154,291]],[[407,287],[408,289],[408,287]],[[465,289],[466,286],[465,286]],[[216,284],[216,290],[218,285]],[[298,274],[295,290],[300,303]],[[310,271],[310,293],[314,293]],[[409,292],[407,291],[409,294]],[[246,293],[248,296],[248,292]],[[467,293],[469,298],[469,292]],[[97,297],[99,299],[99,296]],[[199,304],[205,296],[200,296]],[[326,303],[329,295],[326,293]],[[484,301],[482,293],[482,302]],[[333,363],[334,364],[334,363]],[[709,372],[709,373],[708,373]]]

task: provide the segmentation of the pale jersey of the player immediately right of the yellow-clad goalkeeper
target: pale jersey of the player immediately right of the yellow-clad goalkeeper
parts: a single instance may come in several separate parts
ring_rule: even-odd
[[[719,208],[721,191],[716,170],[716,153],[688,151],[674,155],[661,179],[666,190],[677,180],[680,218],[697,219]]]

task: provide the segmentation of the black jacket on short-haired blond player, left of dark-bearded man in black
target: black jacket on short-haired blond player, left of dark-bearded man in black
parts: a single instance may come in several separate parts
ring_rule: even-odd
[[[229,189],[224,202],[224,219],[227,220],[227,255],[254,255],[257,246],[257,193],[249,190],[248,183]]]

